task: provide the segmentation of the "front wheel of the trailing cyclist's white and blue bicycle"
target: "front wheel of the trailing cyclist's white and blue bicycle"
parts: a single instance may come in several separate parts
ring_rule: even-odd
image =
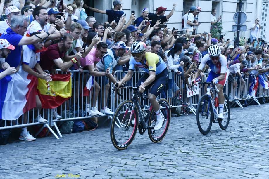
[[[209,103],[208,103],[209,102]],[[209,113],[208,113],[209,108]],[[197,105],[196,121],[201,134],[206,135],[211,129],[213,121],[213,110],[207,95],[203,95]]]

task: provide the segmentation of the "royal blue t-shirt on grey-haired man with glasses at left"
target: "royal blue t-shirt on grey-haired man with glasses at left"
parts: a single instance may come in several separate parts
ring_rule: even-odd
[[[0,37],[0,39],[6,39],[11,45],[15,46],[15,49],[10,50],[11,53],[9,53],[8,57],[6,58],[6,62],[11,67],[16,68],[20,65],[22,46],[18,46],[18,44],[22,38],[22,35],[16,34],[16,32],[10,29],[10,27],[6,29]]]

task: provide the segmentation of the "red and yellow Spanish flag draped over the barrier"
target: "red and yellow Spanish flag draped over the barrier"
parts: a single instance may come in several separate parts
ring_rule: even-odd
[[[49,83],[38,78],[37,92],[44,109],[59,107],[72,95],[71,74],[55,74],[51,78]]]

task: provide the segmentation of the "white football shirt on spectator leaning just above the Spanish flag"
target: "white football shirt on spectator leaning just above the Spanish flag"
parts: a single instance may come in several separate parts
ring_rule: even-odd
[[[35,53],[27,45],[23,46],[23,63],[29,65],[30,68],[34,68],[37,63],[40,62],[40,52]]]

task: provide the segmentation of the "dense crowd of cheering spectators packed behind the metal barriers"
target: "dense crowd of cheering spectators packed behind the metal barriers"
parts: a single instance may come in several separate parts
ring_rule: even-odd
[[[67,5],[63,3],[57,6],[57,4],[57,0],[26,2],[19,0],[18,4],[13,5],[10,0],[1,0],[0,9],[3,12],[0,18],[0,38],[6,39],[5,43],[11,46],[6,48],[0,46],[3,71],[0,76],[3,78],[16,72],[18,74],[26,72],[49,82],[52,80],[51,76],[57,73],[56,69],[64,73],[78,70],[80,74],[72,73],[72,100],[68,100],[72,106],[77,104],[87,83],[86,79],[91,75],[95,77],[92,90],[94,93],[90,93],[88,98],[83,98],[85,102],[83,109],[89,117],[113,114],[107,105],[110,100],[108,99],[110,82],[114,84],[125,75],[118,73],[114,76],[114,71],[128,70],[130,48],[135,41],[143,41],[147,53],[159,55],[169,72],[175,72],[170,76],[166,91],[161,93],[161,97],[169,99],[170,104],[175,99],[181,99],[183,107],[180,115],[188,115],[185,109],[189,103],[182,95],[184,93],[182,90],[186,90],[184,85],[190,87],[189,81],[194,77],[201,59],[208,53],[207,49],[211,45],[220,46],[221,53],[227,58],[232,79],[238,76],[241,80],[241,93],[234,96],[235,100],[252,98],[250,94],[243,96],[242,90],[245,85],[250,88],[256,77],[259,77],[261,84],[269,82],[267,46],[260,49],[259,40],[252,41],[256,39],[256,31],[260,27],[258,19],[255,25],[251,26],[251,44],[245,41],[244,46],[234,46],[229,40],[218,41],[211,38],[210,33],[195,34],[194,27],[200,25],[197,22],[200,7],[192,6],[185,13],[182,29],[171,30],[165,23],[173,15],[176,4],[173,4],[173,9],[168,15],[165,15],[167,8],[164,7],[157,8],[155,13],[150,13],[149,8],[144,8],[141,10],[142,13],[132,13],[129,19],[122,11],[123,3],[120,0],[113,1],[114,8],[111,10],[89,7],[83,0],[75,0]],[[93,16],[87,16],[83,7],[106,14],[108,21],[97,22]],[[63,12],[61,8],[64,9]],[[215,14],[216,11],[213,9],[211,24],[221,18],[216,19]],[[48,70],[49,74],[44,70]],[[84,73],[85,70],[89,73]],[[141,71],[138,67],[136,70]],[[206,66],[200,77],[206,78],[204,73],[209,72],[210,69]],[[241,73],[249,77],[249,84],[246,84]],[[135,83],[132,80],[128,81],[128,85]],[[235,90],[237,86],[237,81],[233,80]],[[102,100],[98,101],[98,98]],[[32,110],[35,111],[34,121],[47,122],[40,113],[39,95],[36,95],[36,107]],[[174,113],[171,115],[177,116]],[[56,109],[53,110],[53,119],[62,119]],[[19,123],[27,123],[26,112],[23,121]],[[26,127],[22,127],[19,139],[35,140]]]

